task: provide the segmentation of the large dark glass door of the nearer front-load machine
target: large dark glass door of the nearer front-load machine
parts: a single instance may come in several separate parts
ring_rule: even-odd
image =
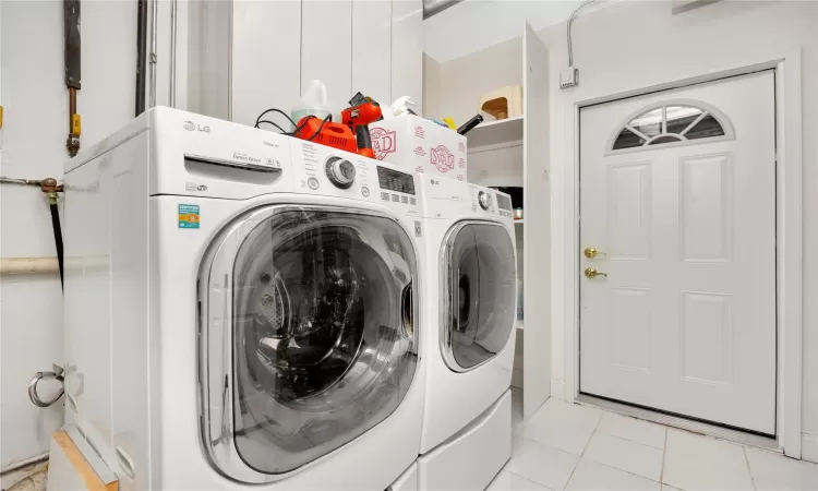
[[[363,434],[407,394],[417,264],[386,217],[266,213],[234,228],[248,231],[233,242],[232,435],[248,466],[282,474]]]

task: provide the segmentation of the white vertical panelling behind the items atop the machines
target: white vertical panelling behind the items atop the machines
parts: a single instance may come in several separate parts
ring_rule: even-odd
[[[420,0],[204,0],[189,13],[192,111],[253,124],[302,106],[320,80],[334,113],[357,92],[408,95],[422,113]]]

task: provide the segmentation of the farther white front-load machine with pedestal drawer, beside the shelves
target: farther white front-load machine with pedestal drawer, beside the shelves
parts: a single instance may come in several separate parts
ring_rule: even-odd
[[[512,455],[517,262],[512,201],[419,175],[431,287],[421,490],[485,488]],[[434,280],[433,278],[436,278]]]

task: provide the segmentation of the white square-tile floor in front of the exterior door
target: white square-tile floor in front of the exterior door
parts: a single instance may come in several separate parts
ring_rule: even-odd
[[[818,464],[551,398],[522,423],[489,491],[818,490]]]

